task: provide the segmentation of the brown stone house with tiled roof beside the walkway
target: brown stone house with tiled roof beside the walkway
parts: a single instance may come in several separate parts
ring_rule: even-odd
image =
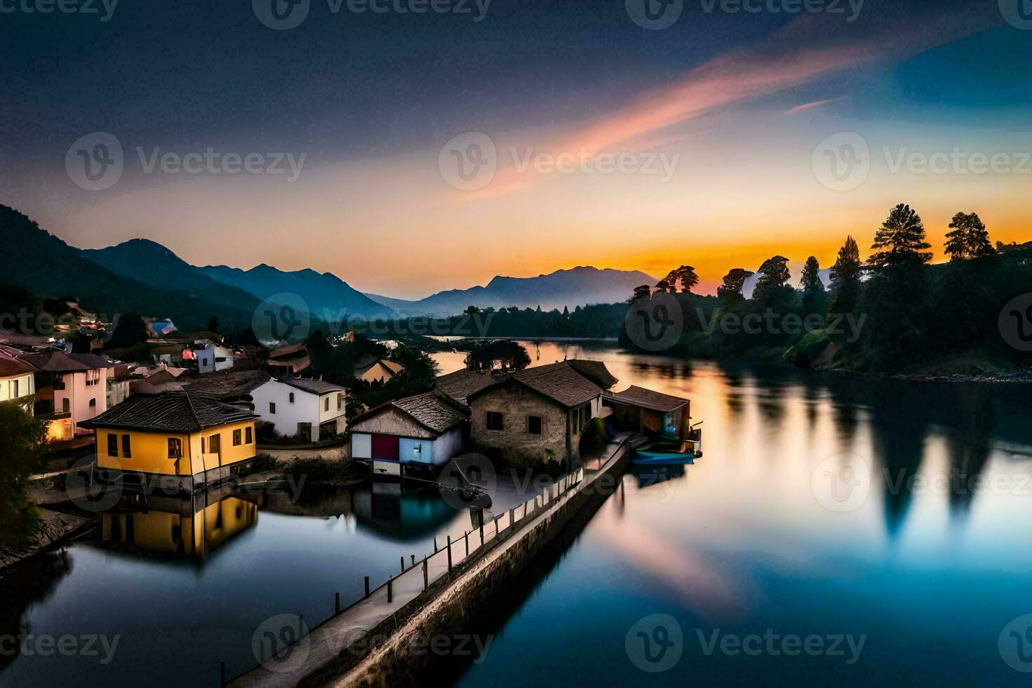
[[[563,361],[499,375],[466,397],[471,436],[515,466],[571,461],[590,420],[602,411],[603,385],[615,383],[604,363]]]

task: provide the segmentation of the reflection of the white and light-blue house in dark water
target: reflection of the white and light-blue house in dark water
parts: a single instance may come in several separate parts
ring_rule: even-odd
[[[352,503],[360,528],[404,543],[434,535],[456,514],[436,489],[404,490],[400,483],[374,482],[355,489]]]

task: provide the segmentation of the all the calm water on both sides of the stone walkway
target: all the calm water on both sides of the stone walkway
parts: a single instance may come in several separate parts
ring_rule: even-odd
[[[540,364],[605,360],[617,389],[689,397],[705,421],[705,456],[626,476],[569,549],[471,629],[495,636],[484,661],[462,667],[461,685],[1028,682],[998,648],[1004,626],[1032,614],[1027,387],[689,365],[608,345],[527,348]],[[447,372],[462,356],[438,358]],[[952,473],[959,488],[913,483]],[[973,476],[996,486],[971,485]],[[859,487],[832,492],[835,477]],[[913,489],[893,489],[900,481]],[[854,509],[833,511],[844,506]],[[383,486],[305,491],[299,503],[227,497],[199,504],[196,527],[179,521],[180,531],[169,511],[107,516],[90,542],[0,581],[0,635],[121,635],[107,664],[102,651],[0,655],[0,685],[217,685],[219,661],[230,675],[254,663],[251,637],[266,618],[321,621],[333,592],[358,596],[363,576],[384,580],[399,556],[469,527],[436,494]],[[170,532],[185,544],[169,545]],[[672,620],[658,631],[644,622],[627,644],[654,614]],[[659,660],[676,659],[672,668],[637,667],[656,666],[644,658],[643,628],[654,643],[674,643],[680,629]],[[716,638],[712,653],[699,632]],[[721,654],[721,638],[750,633],[866,637],[851,664],[844,641],[844,656]],[[1020,661],[1017,641],[1005,640],[1004,654]]]

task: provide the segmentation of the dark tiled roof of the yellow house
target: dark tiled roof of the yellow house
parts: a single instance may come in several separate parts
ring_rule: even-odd
[[[132,396],[89,421],[84,428],[127,428],[154,432],[197,432],[258,418],[249,411],[196,392]]]

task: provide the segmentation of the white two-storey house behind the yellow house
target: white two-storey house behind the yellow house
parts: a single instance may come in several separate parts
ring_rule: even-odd
[[[255,412],[277,432],[304,441],[328,439],[344,432],[345,389],[321,380],[272,378],[251,392]]]

